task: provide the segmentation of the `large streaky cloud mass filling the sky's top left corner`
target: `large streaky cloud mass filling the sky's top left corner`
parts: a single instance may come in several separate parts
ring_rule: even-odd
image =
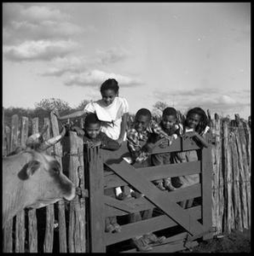
[[[90,27],[71,22],[70,15],[39,4],[3,4],[3,53],[6,60],[50,60],[70,53],[75,36]],[[50,56],[51,55],[51,56]]]

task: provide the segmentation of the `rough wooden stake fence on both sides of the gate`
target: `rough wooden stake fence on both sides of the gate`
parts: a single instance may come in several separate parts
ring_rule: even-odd
[[[32,119],[32,133],[38,132],[38,118]],[[51,121],[51,122],[50,122]],[[44,119],[50,125],[45,138],[59,133],[54,115]],[[3,125],[3,155],[26,143],[29,120],[14,115],[11,127]],[[3,116],[4,124],[4,116]],[[52,132],[51,132],[52,131]],[[211,119],[212,136],[212,225],[216,234],[251,227],[251,129],[238,115],[234,120]],[[72,141],[72,143],[70,143]],[[61,147],[62,144],[62,147]],[[84,180],[83,143],[76,133],[49,149],[62,160],[63,172],[80,188],[81,194],[71,203],[59,201],[38,210],[17,214],[3,230],[4,252],[89,252],[86,234],[88,190]],[[68,170],[72,170],[69,172]],[[74,171],[74,172],[73,172]],[[42,218],[41,216],[44,216]],[[40,218],[38,218],[40,216]],[[43,220],[43,223],[41,223]],[[56,225],[58,224],[58,227]]]

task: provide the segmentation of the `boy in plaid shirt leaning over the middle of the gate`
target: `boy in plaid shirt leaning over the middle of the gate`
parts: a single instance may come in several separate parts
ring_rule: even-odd
[[[153,149],[153,133],[159,134],[161,129],[152,120],[151,112],[146,108],[141,108],[135,116],[134,128],[127,133],[127,145],[130,150],[130,156],[133,166],[143,167],[149,165],[149,153]],[[141,219],[152,218],[153,209],[130,214],[130,223],[134,223]],[[153,233],[148,233],[143,236],[132,238],[133,244],[139,251],[149,251],[150,243],[163,243],[165,236],[155,236]]]

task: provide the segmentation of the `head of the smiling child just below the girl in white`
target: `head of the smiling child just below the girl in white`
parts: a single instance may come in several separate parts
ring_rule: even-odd
[[[89,113],[84,119],[84,131],[89,138],[96,138],[101,131],[101,121],[95,113]]]

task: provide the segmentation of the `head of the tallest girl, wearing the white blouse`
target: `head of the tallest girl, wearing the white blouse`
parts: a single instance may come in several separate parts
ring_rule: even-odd
[[[101,84],[101,96],[106,106],[109,106],[114,98],[118,96],[119,86],[116,79],[107,79]]]

